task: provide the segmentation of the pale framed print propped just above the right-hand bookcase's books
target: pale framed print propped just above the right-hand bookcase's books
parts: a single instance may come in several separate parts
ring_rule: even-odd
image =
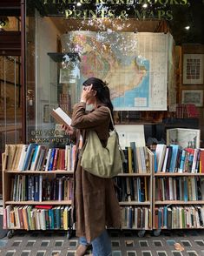
[[[167,130],[167,145],[181,145],[182,148],[200,148],[201,131],[198,129],[174,128]]]

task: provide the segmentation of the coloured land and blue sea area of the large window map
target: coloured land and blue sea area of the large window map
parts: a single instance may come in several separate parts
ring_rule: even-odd
[[[154,77],[148,57],[140,54],[141,44],[135,34],[70,33],[72,50],[81,54],[79,84],[88,77],[99,77],[109,84],[115,110],[151,109],[151,97],[155,95],[151,79],[154,80]],[[159,86],[156,90],[159,90]]]

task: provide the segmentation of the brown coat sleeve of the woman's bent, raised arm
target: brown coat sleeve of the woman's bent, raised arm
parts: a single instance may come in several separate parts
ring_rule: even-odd
[[[72,126],[77,129],[91,129],[107,122],[109,118],[109,110],[107,110],[107,107],[102,106],[89,113],[86,113],[85,107],[86,104],[84,103],[78,103],[74,106]]]

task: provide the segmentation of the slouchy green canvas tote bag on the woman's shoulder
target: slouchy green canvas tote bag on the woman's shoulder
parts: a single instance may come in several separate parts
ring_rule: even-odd
[[[113,118],[109,110],[111,122]],[[119,144],[118,134],[110,131],[107,146],[103,147],[95,131],[89,131],[87,141],[82,148],[82,168],[101,178],[113,178],[122,172],[124,155]]]

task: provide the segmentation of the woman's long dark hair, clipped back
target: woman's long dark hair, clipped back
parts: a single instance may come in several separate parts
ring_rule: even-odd
[[[110,94],[109,94],[109,87],[106,82],[103,82],[101,79],[96,77],[89,77],[86,81],[83,82],[83,86],[89,86],[90,84],[93,84],[92,89],[96,91],[96,98],[98,98],[102,104],[109,107],[109,110],[111,111],[112,117],[113,117],[113,104],[110,100]],[[112,122],[110,122],[109,128],[113,130]]]

